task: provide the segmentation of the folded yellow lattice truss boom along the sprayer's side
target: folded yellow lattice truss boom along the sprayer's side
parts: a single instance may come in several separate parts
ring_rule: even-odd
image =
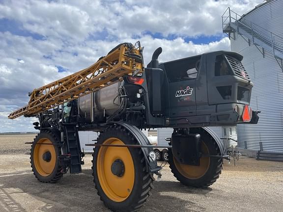
[[[140,42],[137,43],[137,48],[130,43],[120,44],[90,67],[34,89],[29,94],[28,105],[12,112],[8,118],[35,116],[109,86],[125,75],[141,73],[144,69],[142,48]]]

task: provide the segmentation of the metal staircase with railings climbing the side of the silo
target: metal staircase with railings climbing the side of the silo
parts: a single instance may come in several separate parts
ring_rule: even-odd
[[[264,50],[272,53],[283,70],[283,37],[242,17],[232,11],[230,7],[222,15],[222,29],[229,38],[231,38],[230,34],[233,32],[244,36],[243,38],[249,45],[252,42],[263,55]]]

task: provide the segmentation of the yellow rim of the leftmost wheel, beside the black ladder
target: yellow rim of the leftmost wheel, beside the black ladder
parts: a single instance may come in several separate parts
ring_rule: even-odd
[[[47,144],[47,145],[45,145]],[[56,151],[48,138],[41,138],[33,149],[33,163],[36,171],[41,176],[49,176],[56,166]],[[48,159],[46,159],[48,154]]]

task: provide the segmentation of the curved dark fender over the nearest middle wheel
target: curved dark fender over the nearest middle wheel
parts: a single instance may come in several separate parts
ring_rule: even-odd
[[[145,136],[145,134],[143,134],[139,128],[137,128],[136,126],[133,125],[129,125],[125,122],[110,122],[112,124],[117,124],[120,125],[121,127],[125,128],[126,130],[128,130],[135,138],[136,140],[139,142],[140,145],[151,145],[149,140],[147,139],[147,137]],[[158,174],[158,171],[161,169],[160,166],[157,165],[157,161],[151,161],[149,160],[149,153],[153,151],[153,148],[141,148],[142,149],[142,153],[144,155],[144,159],[145,159],[145,164],[146,164],[146,170],[150,173],[150,174]],[[159,174],[158,174],[159,175]]]

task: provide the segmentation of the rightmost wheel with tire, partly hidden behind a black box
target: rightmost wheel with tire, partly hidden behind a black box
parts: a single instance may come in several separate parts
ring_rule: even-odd
[[[194,132],[201,133],[201,132]],[[201,152],[205,157],[200,158],[200,165],[187,165],[179,163],[169,149],[169,164],[173,175],[183,185],[206,188],[219,178],[223,159],[212,158],[208,155],[221,155],[216,141],[208,134],[201,134]]]

